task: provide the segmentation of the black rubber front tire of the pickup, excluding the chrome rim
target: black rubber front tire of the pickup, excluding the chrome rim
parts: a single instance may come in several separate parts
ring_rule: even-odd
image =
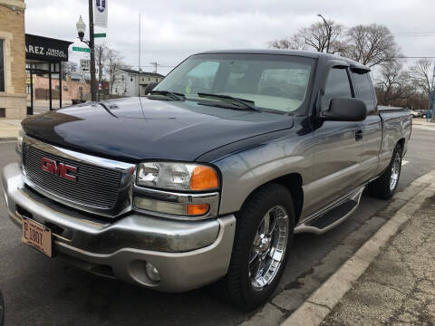
[[[284,258],[272,281],[262,288],[255,290],[249,276],[249,260],[251,249],[259,225],[266,213],[275,206],[285,208],[288,216],[287,243]],[[236,237],[231,254],[228,273],[221,280],[227,301],[243,311],[251,311],[266,303],[275,291],[288,259],[289,247],[293,242],[295,228],[295,208],[288,190],[279,184],[268,184],[259,188],[247,200],[244,208],[237,216]]]

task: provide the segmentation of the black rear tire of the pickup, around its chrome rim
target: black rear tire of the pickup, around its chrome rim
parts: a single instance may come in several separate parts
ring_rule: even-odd
[[[401,155],[402,155],[401,145],[397,144],[396,148],[392,152],[392,157],[388,168],[385,169],[381,177],[378,177],[377,179],[369,183],[368,190],[369,190],[369,194],[372,197],[390,199],[394,195],[397,186],[399,185],[399,180],[401,178]],[[397,177],[395,186],[391,187],[392,167],[396,157],[399,158],[399,167],[398,167],[399,175]]]

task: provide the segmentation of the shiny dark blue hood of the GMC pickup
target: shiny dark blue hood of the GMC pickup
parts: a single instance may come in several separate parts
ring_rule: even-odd
[[[128,162],[193,161],[237,140],[292,126],[286,115],[147,98],[82,104],[23,121],[36,139]]]

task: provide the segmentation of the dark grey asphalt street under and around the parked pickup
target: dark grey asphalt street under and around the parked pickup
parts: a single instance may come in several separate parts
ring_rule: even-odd
[[[399,191],[435,168],[434,144],[434,131],[413,129]],[[14,143],[0,143],[0,154],[0,168],[13,162]],[[154,292],[82,272],[58,258],[50,260],[21,243],[21,230],[7,218],[2,197],[0,290],[5,299],[5,325],[265,324],[261,316],[266,316],[266,324],[276,324],[385,223],[371,217],[387,205],[387,201],[364,195],[353,216],[331,232],[296,235],[274,298],[258,312],[246,313],[229,307],[213,287],[179,294]]]

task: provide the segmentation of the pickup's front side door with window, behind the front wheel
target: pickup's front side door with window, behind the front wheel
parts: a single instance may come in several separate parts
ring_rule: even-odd
[[[321,91],[321,110],[335,97],[354,97],[347,66],[330,68]],[[307,216],[344,197],[361,181],[362,121],[321,121],[314,127],[314,182],[307,185]]]

